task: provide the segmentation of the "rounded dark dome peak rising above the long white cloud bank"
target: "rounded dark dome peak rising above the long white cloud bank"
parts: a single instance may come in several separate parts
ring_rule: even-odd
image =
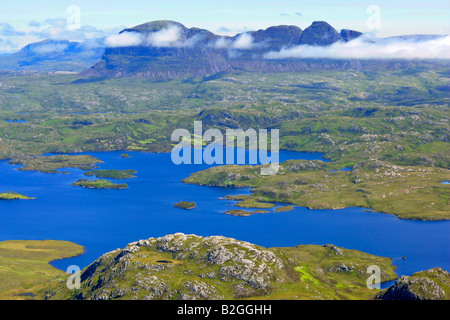
[[[314,21],[303,31],[298,44],[328,46],[339,40],[342,40],[342,37],[336,29],[324,21]]]

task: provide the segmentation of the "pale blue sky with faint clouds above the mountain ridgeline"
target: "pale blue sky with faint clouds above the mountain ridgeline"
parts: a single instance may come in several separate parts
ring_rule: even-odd
[[[84,41],[153,20],[222,35],[323,20],[379,37],[450,34],[450,0],[0,0],[0,53],[39,40]]]

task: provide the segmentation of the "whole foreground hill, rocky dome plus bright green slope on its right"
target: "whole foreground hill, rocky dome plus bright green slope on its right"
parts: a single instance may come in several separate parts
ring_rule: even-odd
[[[120,257],[120,259],[119,259]],[[222,236],[174,234],[131,243],[82,271],[74,296],[54,283],[50,299],[372,299],[368,266],[397,278],[389,258],[333,245],[264,248]],[[195,290],[194,290],[195,288]]]

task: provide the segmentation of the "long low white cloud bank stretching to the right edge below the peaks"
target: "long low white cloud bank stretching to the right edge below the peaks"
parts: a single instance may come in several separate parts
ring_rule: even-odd
[[[271,51],[266,59],[333,58],[333,59],[450,59],[450,36],[425,41],[412,39],[375,39],[365,36],[327,47],[299,45]]]

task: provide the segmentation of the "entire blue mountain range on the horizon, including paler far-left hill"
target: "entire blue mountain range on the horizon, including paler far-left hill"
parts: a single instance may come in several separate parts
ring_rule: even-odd
[[[361,70],[379,68],[380,63],[392,68],[392,61],[267,59],[264,56],[302,45],[323,48],[337,42],[349,42],[361,35],[361,32],[349,29],[338,32],[327,22],[315,21],[304,30],[280,25],[230,37],[205,29],[187,28],[175,21],[159,20],[85,43],[66,40],[32,43],[17,53],[0,56],[0,70],[72,71],[94,78],[139,77],[166,81],[211,77],[223,72]],[[423,41],[433,37],[436,36],[413,35],[392,39]],[[408,61],[397,61],[395,68],[409,65]]]

